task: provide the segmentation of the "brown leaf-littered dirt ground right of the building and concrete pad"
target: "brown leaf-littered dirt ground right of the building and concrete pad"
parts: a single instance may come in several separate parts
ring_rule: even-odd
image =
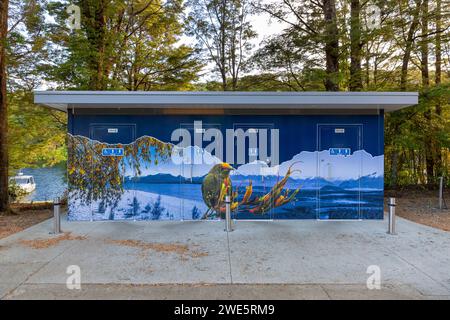
[[[438,192],[435,190],[386,191],[385,211],[389,210],[389,197],[396,198],[396,215],[430,227],[450,231],[450,190],[445,192],[447,209],[439,210]]]

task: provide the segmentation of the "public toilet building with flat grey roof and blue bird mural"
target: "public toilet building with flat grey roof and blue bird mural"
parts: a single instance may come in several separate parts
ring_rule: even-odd
[[[69,220],[382,219],[384,114],[416,92],[36,91]]]

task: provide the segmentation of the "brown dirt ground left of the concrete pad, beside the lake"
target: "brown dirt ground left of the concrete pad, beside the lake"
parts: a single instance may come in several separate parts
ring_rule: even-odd
[[[0,215],[0,239],[53,216],[51,204],[12,204],[15,214]]]

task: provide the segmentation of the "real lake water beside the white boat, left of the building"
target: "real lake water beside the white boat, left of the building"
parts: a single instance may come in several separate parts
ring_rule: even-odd
[[[46,201],[61,197],[67,189],[66,168],[55,166],[49,168],[22,169],[24,175],[32,175],[36,182],[36,190],[28,194],[22,201]]]

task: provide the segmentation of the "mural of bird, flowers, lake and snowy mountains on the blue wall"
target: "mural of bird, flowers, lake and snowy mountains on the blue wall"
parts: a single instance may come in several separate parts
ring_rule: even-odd
[[[261,160],[231,166],[198,146],[174,148],[150,136],[108,144],[69,134],[69,219],[218,219],[227,194],[239,219],[383,216],[382,155],[299,150],[274,166]],[[195,154],[202,163],[176,159]]]

